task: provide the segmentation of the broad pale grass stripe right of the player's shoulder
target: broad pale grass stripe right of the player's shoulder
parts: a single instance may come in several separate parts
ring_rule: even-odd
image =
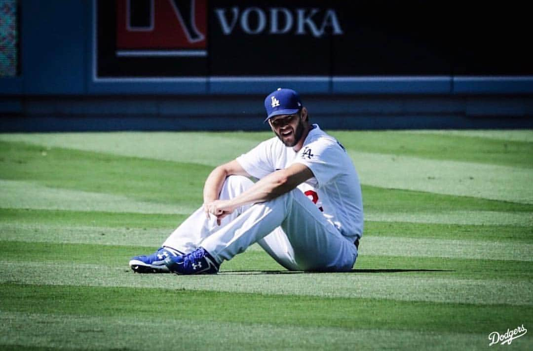
[[[533,203],[531,168],[361,151],[349,154],[365,185]]]

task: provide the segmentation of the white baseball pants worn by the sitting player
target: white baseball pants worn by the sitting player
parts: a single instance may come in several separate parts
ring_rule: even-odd
[[[253,182],[228,177],[220,199],[238,196]],[[181,252],[202,246],[219,263],[258,243],[289,270],[346,272],[357,258],[353,238],[343,236],[299,189],[273,200],[241,206],[222,219],[207,219],[204,208],[187,218],[163,243]]]

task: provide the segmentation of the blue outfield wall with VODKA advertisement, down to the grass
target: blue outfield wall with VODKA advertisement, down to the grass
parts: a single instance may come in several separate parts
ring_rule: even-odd
[[[1,131],[261,129],[279,86],[329,128],[533,127],[520,2],[2,1]]]

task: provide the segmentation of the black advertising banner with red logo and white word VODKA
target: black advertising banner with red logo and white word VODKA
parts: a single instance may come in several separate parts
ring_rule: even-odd
[[[496,28],[494,18],[511,10],[458,4],[97,0],[95,75],[533,74],[524,13],[514,11],[513,22]]]

